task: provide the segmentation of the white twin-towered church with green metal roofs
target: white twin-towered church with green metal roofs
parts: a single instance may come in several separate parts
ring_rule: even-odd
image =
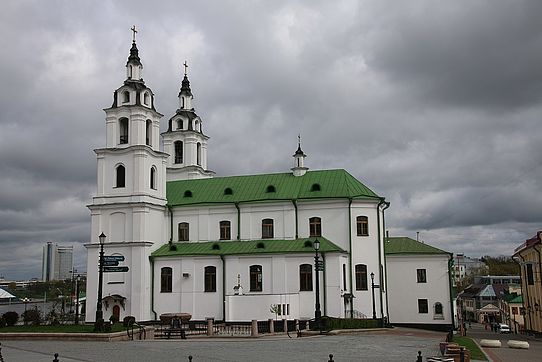
[[[105,147],[95,150],[86,321],[95,318],[102,233],[105,255],[128,267],[104,273],[106,320],[314,318],[316,240],[322,315],[387,317],[389,203],[345,170],[309,170],[299,143],[286,172],[217,177],[186,70],[178,99],[160,134],[134,39],[126,80],[105,109]]]

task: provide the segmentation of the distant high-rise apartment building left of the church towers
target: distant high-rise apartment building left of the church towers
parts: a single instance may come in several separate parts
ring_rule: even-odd
[[[43,246],[41,275],[44,282],[71,278],[73,246],[59,246],[48,241]]]

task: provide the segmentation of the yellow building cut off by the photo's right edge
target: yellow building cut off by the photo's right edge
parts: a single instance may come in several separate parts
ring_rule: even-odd
[[[514,251],[514,259],[521,266],[521,289],[525,330],[542,334],[542,231],[526,240]]]

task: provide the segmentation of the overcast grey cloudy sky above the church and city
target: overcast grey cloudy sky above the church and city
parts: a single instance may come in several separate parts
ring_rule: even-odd
[[[0,275],[86,268],[103,108],[137,44],[166,120],[189,64],[218,175],[344,168],[391,235],[511,255],[542,229],[540,1],[20,1],[0,12]]]

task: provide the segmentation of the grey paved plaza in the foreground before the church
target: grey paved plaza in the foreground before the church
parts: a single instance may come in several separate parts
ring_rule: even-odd
[[[52,361],[416,361],[438,355],[442,333],[390,330],[288,338],[192,338],[131,342],[2,341],[5,362]],[[425,360],[425,358],[424,358]]]

